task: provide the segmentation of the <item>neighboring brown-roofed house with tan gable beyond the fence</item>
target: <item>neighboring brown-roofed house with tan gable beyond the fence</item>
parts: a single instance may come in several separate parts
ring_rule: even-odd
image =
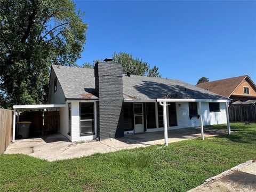
[[[256,85],[248,75],[199,83],[196,86],[233,101],[256,100]]]

